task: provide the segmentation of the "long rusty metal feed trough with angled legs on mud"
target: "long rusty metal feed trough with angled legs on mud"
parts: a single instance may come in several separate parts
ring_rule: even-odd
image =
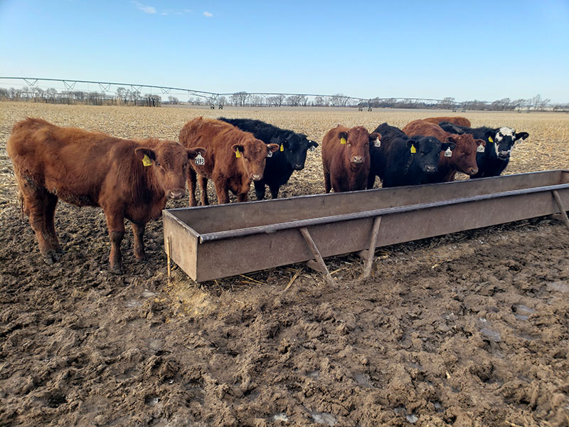
[[[552,170],[167,209],[164,247],[197,282],[309,260],[332,282],[332,255],[363,251],[366,276],[378,246],[556,213],[569,229],[567,206],[569,171]]]

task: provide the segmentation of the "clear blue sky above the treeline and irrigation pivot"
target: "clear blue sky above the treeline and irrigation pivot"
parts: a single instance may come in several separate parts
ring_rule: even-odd
[[[0,0],[0,76],[569,102],[569,0]]]

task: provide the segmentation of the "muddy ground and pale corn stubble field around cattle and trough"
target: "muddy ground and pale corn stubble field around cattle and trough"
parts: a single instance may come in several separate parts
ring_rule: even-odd
[[[66,253],[43,264],[6,155],[16,121],[177,141],[198,115],[319,143],[338,124],[464,115],[529,133],[506,174],[569,167],[565,114],[1,102],[0,426],[569,426],[569,233],[555,219],[378,248],[363,282],[361,260],[334,257],[339,289],[303,265],[198,285],[178,268],[167,284],[161,221],[147,263],[127,228],[113,275],[102,211],[60,204]],[[319,147],[281,196],[322,192]]]

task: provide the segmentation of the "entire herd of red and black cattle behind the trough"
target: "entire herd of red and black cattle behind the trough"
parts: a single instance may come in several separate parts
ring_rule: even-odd
[[[457,172],[498,176],[514,143],[527,137],[511,127],[473,128],[464,117],[415,120],[402,130],[383,123],[371,133],[337,126],[322,141],[324,186],[328,193],[370,189],[376,176],[383,187],[452,181]],[[119,139],[36,118],[17,122],[7,142],[23,211],[44,260],[53,263],[63,253],[54,225],[62,199],[103,209],[110,267],[117,272],[122,272],[124,218],[132,223],[134,255],[144,259],[146,223],[161,216],[166,199],[184,196],[186,181],[191,206],[197,204],[198,177],[202,205],[208,204],[208,179],[220,204],[228,203],[229,191],[247,201],[251,182],[257,199],[264,199],[265,186],[276,198],[315,147],[306,135],[260,120],[203,117],[184,125],[179,143]]]

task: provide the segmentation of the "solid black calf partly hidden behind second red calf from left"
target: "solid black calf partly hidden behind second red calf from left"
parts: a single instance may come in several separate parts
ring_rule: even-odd
[[[272,199],[277,199],[280,186],[287,183],[292,172],[304,169],[307,149],[318,147],[318,144],[307,139],[306,135],[281,129],[260,120],[226,119],[224,117],[220,117],[219,120],[228,122],[245,132],[251,132],[255,138],[265,144],[279,144],[280,146],[277,152],[267,157],[262,179],[254,181],[257,200],[265,199],[265,185],[269,186]]]

